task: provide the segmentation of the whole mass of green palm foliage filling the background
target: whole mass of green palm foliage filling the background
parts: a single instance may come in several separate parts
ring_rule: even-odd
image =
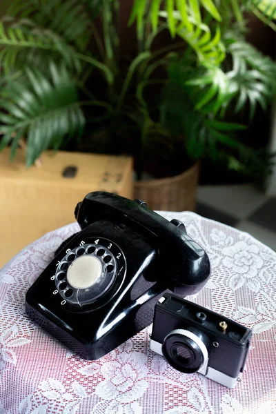
[[[139,172],[146,148],[173,153],[181,137],[190,159],[223,159],[248,175],[266,174],[270,158],[235,136],[245,127],[228,113],[249,108],[250,122],[275,95],[276,65],[246,42],[244,13],[276,29],[276,0],[135,0],[131,60],[120,53],[120,6],[12,2],[0,24],[0,149],[10,145],[13,157],[26,141],[31,166],[43,150],[78,148],[104,129],[106,150],[113,143],[117,152],[132,152]],[[166,31],[170,44],[153,47]]]

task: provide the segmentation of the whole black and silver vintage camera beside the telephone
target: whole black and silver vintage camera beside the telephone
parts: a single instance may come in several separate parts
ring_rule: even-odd
[[[165,293],[155,306],[150,349],[178,371],[233,388],[241,380],[251,337],[237,322]]]

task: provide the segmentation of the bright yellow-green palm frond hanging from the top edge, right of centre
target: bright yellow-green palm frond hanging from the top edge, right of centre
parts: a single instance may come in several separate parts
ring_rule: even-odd
[[[129,23],[132,24],[135,20],[137,20],[138,33],[141,31],[141,26],[144,23],[143,18],[147,12],[147,8],[148,2],[146,0],[135,0],[132,7]],[[157,30],[160,12],[165,11],[168,27],[172,36],[175,36],[176,34],[176,27],[178,23],[175,19],[175,12],[179,13],[181,17],[181,24],[184,28],[190,30],[188,15],[195,19],[198,26],[201,23],[201,8],[203,8],[205,12],[208,12],[213,19],[221,21],[221,16],[213,0],[166,0],[166,2],[152,0],[150,2],[150,19],[152,28],[154,31]]]

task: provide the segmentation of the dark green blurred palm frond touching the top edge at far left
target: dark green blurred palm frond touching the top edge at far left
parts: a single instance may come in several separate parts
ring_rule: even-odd
[[[83,50],[89,41],[92,21],[84,0],[14,0],[8,14],[17,19],[32,19],[37,26],[59,34]]]

